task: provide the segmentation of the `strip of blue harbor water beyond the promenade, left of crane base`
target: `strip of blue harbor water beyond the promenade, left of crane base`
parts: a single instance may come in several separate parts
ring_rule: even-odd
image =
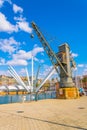
[[[36,94],[0,96],[0,104],[35,101],[36,98],[37,100],[51,99],[51,98],[54,99],[56,98],[56,92],[49,91],[45,93],[39,93],[37,94],[37,97]]]

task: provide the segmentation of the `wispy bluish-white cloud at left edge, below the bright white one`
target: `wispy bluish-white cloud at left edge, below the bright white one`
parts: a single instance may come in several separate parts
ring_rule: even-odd
[[[9,54],[15,52],[20,45],[13,37],[9,39],[0,39],[0,50],[8,52]]]

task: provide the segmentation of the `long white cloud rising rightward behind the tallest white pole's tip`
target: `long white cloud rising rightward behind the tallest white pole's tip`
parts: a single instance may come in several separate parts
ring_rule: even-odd
[[[8,65],[27,65],[28,64],[28,60],[30,60],[32,58],[32,52],[35,53],[33,54],[34,56],[34,60],[39,62],[39,59],[36,58],[36,55],[40,52],[43,52],[43,48],[41,47],[36,47],[33,48],[33,50],[31,51],[24,51],[24,50],[19,50],[18,52],[16,52],[16,54],[12,55],[12,60],[8,61],[7,64]]]

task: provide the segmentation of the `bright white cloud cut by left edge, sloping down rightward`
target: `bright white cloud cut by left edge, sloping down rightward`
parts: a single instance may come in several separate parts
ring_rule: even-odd
[[[7,18],[5,17],[5,15],[3,13],[0,12],[0,32],[7,32],[7,33],[11,33],[11,32],[17,32],[18,28],[15,25],[12,25]]]

